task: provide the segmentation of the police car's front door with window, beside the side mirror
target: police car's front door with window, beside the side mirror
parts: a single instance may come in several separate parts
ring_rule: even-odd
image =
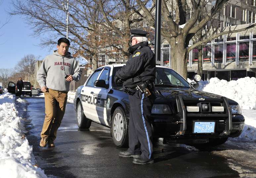
[[[107,104],[107,93],[109,91],[110,85],[109,85],[109,74],[110,74],[110,67],[105,67],[100,77],[97,80],[105,80],[105,83],[108,85],[108,88],[101,88],[94,86],[94,89],[91,91],[93,92],[93,101],[90,105],[91,107],[91,115],[94,121],[107,125],[107,110],[106,110],[106,104]]]

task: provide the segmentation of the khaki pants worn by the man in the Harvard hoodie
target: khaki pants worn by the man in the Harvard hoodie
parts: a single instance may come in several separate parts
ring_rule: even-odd
[[[49,89],[44,93],[45,99],[45,119],[41,132],[41,138],[49,137],[55,140],[57,130],[63,119],[66,103],[67,92]]]

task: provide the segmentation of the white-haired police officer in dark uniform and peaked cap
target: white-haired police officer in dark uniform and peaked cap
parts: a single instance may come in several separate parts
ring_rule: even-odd
[[[133,157],[135,164],[153,163],[152,128],[149,121],[155,99],[155,55],[148,44],[144,30],[131,30],[129,60],[116,72],[114,81],[123,81],[124,91],[129,93],[129,149],[120,157]]]

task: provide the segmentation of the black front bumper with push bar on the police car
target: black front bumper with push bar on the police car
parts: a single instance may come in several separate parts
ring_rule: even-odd
[[[218,102],[224,106],[224,112],[191,113],[186,110],[189,103],[198,102],[197,98],[177,96],[177,113],[168,115],[151,115],[154,137],[173,139],[194,138],[227,138],[237,137],[244,127],[244,117],[241,114],[232,115],[227,98],[210,98],[205,102]],[[215,122],[213,133],[193,133],[194,122]]]

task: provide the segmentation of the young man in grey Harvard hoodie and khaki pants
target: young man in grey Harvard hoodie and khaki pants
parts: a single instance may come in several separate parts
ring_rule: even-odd
[[[57,130],[61,125],[67,102],[67,92],[71,81],[79,81],[81,69],[70,55],[70,42],[66,38],[58,40],[52,55],[43,60],[38,72],[37,82],[45,95],[45,119],[41,131],[40,146],[54,147]]]

